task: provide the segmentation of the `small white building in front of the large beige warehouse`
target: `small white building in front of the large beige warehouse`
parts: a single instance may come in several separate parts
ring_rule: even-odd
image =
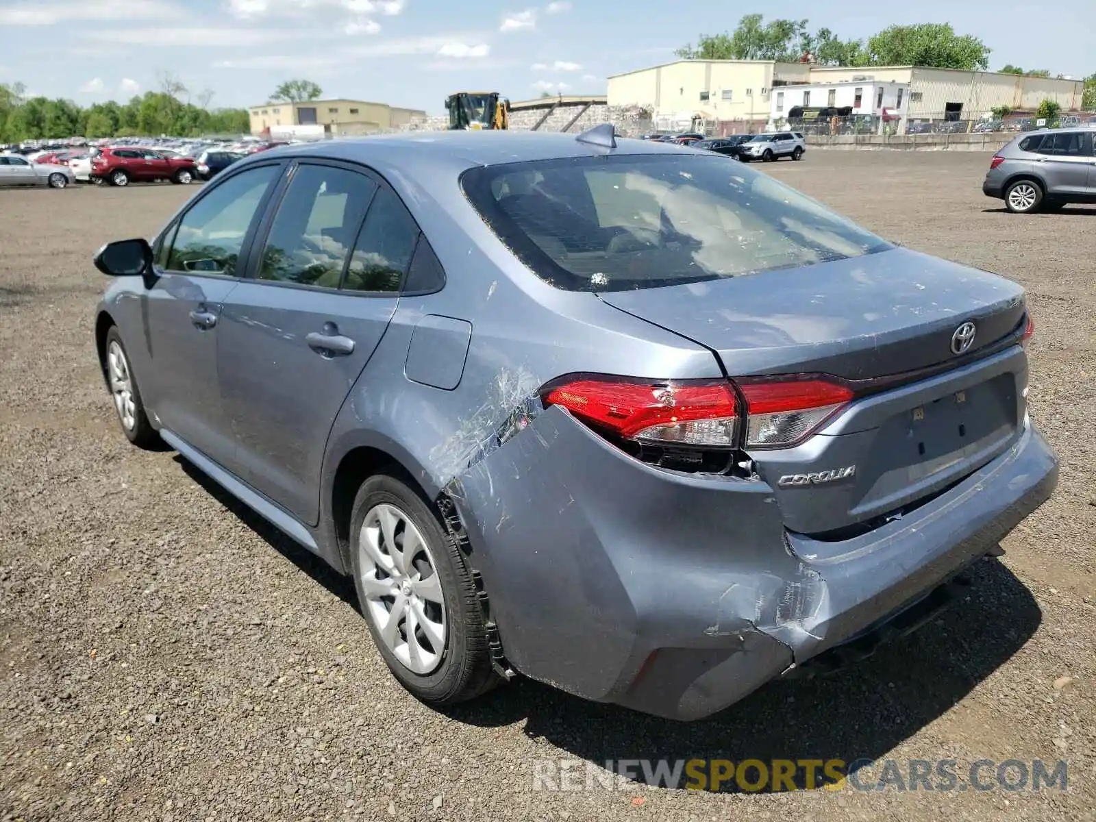
[[[819,109],[850,109],[852,116],[874,117],[872,130],[878,130],[886,121],[901,133],[910,109],[910,84],[857,80],[785,85],[773,90],[769,125],[787,121],[794,113],[810,118]]]

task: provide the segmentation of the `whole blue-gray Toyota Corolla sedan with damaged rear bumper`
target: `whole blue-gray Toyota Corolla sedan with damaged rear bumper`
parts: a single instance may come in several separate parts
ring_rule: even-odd
[[[708,716],[923,623],[1057,482],[1019,286],[608,126],[265,151],[95,264],[126,436],[351,574],[436,705]]]

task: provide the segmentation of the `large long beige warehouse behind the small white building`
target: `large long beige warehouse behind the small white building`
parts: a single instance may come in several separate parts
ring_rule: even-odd
[[[689,119],[741,125],[720,130],[756,128],[769,117],[774,88],[810,83],[874,82],[910,89],[907,116],[977,119],[997,106],[1031,111],[1044,99],[1063,111],[1081,107],[1084,82],[1053,78],[879,66],[844,68],[772,60],[677,60],[608,78],[608,103],[642,105],[659,128],[687,128]]]

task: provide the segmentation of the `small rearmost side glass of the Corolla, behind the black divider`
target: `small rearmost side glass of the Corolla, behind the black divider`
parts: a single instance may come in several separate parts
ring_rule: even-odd
[[[381,189],[369,206],[344,288],[355,292],[398,292],[419,240],[419,226],[400,198]]]

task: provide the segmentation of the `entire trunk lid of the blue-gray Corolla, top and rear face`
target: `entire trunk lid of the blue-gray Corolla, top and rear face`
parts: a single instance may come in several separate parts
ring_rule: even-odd
[[[732,377],[929,369],[855,399],[800,445],[746,448],[785,526],[833,550],[984,466],[1025,419],[1025,353],[983,351],[1024,321],[1024,290],[987,272],[894,249],[601,298],[707,346]],[[974,340],[957,355],[952,336],[967,321]]]

